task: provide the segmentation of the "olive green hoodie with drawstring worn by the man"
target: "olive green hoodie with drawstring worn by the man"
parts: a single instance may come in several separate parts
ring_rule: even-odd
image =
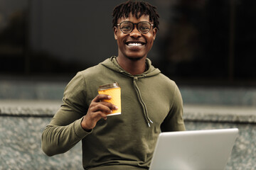
[[[146,59],[143,74],[129,74],[111,57],[85,69],[66,86],[63,105],[42,135],[42,149],[53,156],[82,140],[84,169],[148,169],[161,131],[185,130],[178,87]],[[91,132],[82,116],[102,84],[121,86],[122,114],[99,120]]]

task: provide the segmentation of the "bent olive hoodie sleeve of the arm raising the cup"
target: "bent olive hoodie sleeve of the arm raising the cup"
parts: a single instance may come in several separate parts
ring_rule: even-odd
[[[90,132],[82,129],[82,116],[87,113],[85,81],[78,73],[66,86],[63,105],[42,134],[42,149],[48,156],[67,152]]]

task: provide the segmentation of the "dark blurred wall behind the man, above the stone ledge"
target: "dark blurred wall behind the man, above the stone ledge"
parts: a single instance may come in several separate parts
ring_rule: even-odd
[[[117,55],[119,0],[0,0],[0,76],[71,79]],[[255,85],[256,2],[149,0],[160,30],[149,58],[178,84]]]

